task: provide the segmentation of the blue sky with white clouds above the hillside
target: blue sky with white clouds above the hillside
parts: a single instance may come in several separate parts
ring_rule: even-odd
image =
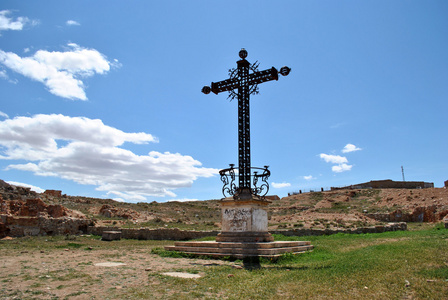
[[[447,1],[0,3],[0,178],[121,201],[219,199],[245,48],[270,194],[448,179]]]

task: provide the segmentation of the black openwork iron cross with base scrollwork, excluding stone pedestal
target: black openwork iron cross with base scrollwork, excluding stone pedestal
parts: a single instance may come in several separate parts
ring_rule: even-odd
[[[204,86],[202,92],[216,95],[221,92],[229,92],[229,98],[233,100],[238,98],[238,177],[239,187],[234,183],[235,169],[233,164],[230,168],[219,171],[221,180],[224,183],[224,196],[233,196],[234,199],[253,199],[253,196],[258,198],[264,197],[268,190],[269,184],[267,178],[270,175],[268,166],[264,168],[254,168],[250,165],[250,114],[249,114],[249,97],[251,94],[258,94],[258,84],[278,80],[278,74],[286,76],[291,71],[288,67],[282,67],[280,71],[272,67],[264,71],[258,71],[258,63],[249,63],[246,60],[247,51],[243,48],[239,52],[241,60],[237,61],[237,68],[229,70],[229,79],[212,82],[211,87]],[[237,92],[235,92],[237,90]],[[254,169],[253,185],[251,187],[251,169]],[[257,171],[258,170],[258,171]],[[259,174],[259,171],[262,171]],[[261,179],[263,183],[257,186],[258,180]]]

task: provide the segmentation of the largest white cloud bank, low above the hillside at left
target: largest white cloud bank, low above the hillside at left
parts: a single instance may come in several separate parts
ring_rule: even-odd
[[[217,173],[179,153],[134,154],[121,147],[126,142],[147,144],[157,139],[82,117],[35,115],[0,122],[0,159],[26,162],[10,164],[6,170],[94,185],[126,201],[144,201],[147,196],[174,198],[173,190]]]

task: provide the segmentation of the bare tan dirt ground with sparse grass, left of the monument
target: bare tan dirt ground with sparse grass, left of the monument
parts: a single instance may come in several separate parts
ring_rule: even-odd
[[[89,236],[0,240],[0,299],[123,299],[130,289],[161,284],[165,272],[201,275],[204,267],[234,264],[151,254],[163,243]],[[101,266],[107,262],[123,265]]]

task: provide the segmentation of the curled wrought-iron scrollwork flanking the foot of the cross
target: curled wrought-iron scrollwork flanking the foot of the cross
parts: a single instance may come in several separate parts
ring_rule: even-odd
[[[251,167],[254,170],[251,174],[251,177],[253,177],[251,187],[253,195],[263,198],[269,192],[268,178],[271,176],[271,171],[268,168],[269,166],[264,166],[264,168]],[[238,168],[235,168],[234,164],[230,164],[230,168],[220,170],[219,175],[224,184],[222,187],[224,197],[234,197],[241,192],[235,183],[236,177],[239,175]]]

